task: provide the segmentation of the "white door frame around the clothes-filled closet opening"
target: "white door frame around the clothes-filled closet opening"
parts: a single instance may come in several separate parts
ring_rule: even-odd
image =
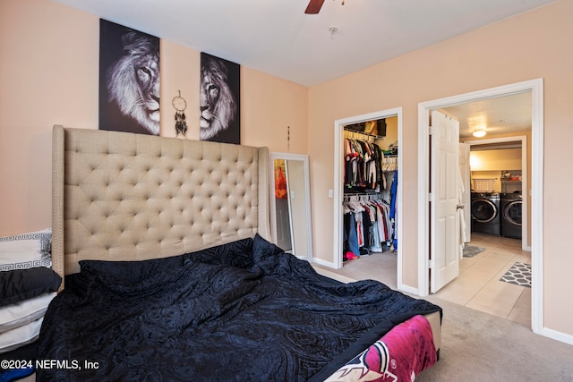
[[[398,144],[403,142],[402,137],[402,107],[394,107],[391,109],[381,110],[365,115],[355,115],[348,118],[338,119],[334,121],[334,266],[337,269],[342,267],[342,245],[343,245],[343,218],[342,218],[342,200],[344,196],[344,126],[351,123],[362,123],[372,121],[375,119],[388,118],[391,116],[398,116]],[[402,150],[398,149],[398,254],[397,254],[397,277],[396,284],[398,289],[402,289]]]

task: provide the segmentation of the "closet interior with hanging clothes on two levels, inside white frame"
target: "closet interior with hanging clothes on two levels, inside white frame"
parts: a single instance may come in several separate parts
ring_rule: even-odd
[[[398,117],[344,126],[342,259],[398,250]]]

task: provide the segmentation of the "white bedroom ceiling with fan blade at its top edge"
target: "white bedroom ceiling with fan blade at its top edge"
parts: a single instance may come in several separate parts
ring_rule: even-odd
[[[54,1],[310,87],[554,0]]]

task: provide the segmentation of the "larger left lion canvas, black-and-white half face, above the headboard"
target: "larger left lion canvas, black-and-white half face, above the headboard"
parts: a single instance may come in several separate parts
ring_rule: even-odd
[[[99,129],[159,135],[159,38],[99,22]]]

